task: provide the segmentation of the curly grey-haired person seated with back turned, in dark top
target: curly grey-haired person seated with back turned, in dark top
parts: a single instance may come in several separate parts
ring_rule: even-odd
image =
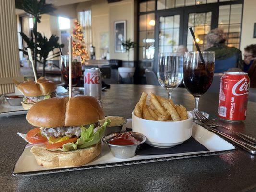
[[[207,49],[215,52],[215,73],[239,72],[243,70],[242,53],[235,47],[225,45],[226,35],[220,28],[211,30],[207,36]]]

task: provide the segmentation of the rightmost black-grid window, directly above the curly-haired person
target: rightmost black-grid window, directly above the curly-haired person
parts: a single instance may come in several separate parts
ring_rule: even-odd
[[[218,27],[222,28],[227,36],[226,44],[239,48],[242,4],[219,6]]]

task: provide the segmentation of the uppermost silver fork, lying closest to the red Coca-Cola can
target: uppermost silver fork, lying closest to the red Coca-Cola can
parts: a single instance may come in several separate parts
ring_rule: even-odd
[[[237,135],[238,137],[244,139],[245,141],[249,142],[250,144],[254,144],[256,145],[256,139],[253,138],[253,137],[250,137],[248,135],[245,135],[245,134],[242,134],[242,133],[239,133],[239,132],[235,132],[233,131],[232,129],[228,128],[228,127],[224,127],[224,126],[221,126],[221,125],[216,125],[214,123],[214,120],[209,120],[207,117],[205,117],[200,111],[195,111],[195,116],[197,114],[198,116],[198,119],[200,119],[200,121],[202,123],[204,123],[205,125],[208,125],[210,127],[221,127],[221,128],[224,128],[232,133],[234,133],[235,135]]]

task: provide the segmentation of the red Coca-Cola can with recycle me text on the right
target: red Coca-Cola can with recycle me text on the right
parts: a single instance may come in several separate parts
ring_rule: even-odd
[[[250,79],[245,72],[225,72],[220,80],[219,118],[242,121],[246,118]]]

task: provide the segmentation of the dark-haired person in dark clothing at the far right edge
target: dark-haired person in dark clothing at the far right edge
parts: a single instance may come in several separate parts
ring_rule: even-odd
[[[244,72],[248,72],[250,87],[256,88],[256,44],[244,48]]]

